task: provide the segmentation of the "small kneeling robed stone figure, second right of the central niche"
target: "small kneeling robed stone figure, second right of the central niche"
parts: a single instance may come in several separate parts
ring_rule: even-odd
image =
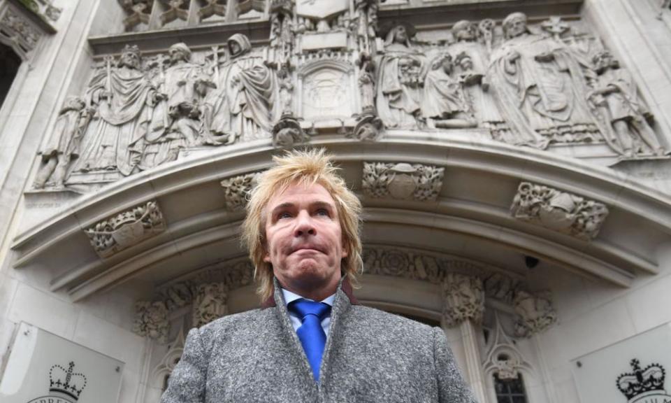
[[[466,101],[463,87],[452,77],[452,55],[438,55],[424,80],[421,114],[428,127],[475,127],[477,122]]]

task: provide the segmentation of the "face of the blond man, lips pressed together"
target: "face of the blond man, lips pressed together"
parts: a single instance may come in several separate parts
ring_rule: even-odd
[[[266,215],[266,257],[282,287],[305,291],[333,288],[347,256],[335,201],[322,185],[289,185],[274,195]],[[328,295],[326,295],[328,296]]]

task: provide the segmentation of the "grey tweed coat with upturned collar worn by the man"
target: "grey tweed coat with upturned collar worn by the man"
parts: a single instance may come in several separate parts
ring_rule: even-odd
[[[192,329],[161,403],[475,403],[440,328],[356,304],[344,281],[312,378],[282,292]]]

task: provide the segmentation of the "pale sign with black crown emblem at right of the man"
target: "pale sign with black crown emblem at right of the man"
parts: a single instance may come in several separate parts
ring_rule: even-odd
[[[573,360],[580,402],[671,403],[671,324]]]

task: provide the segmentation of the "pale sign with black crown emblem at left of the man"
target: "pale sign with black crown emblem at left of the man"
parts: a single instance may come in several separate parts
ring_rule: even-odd
[[[21,323],[0,382],[3,403],[116,403],[124,362]]]

